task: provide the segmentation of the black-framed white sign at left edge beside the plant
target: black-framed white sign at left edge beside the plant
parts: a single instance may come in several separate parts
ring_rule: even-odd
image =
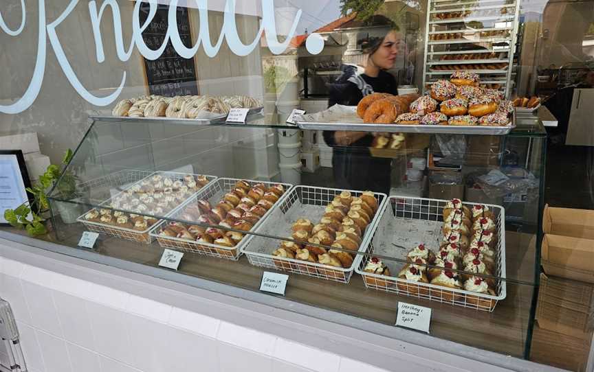
[[[29,200],[27,187],[31,187],[25,158],[21,150],[0,150],[0,224],[6,209],[16,209]]]

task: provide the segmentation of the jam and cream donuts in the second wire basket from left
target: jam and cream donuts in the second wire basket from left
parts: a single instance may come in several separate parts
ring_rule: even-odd
[[[170,222],[164,226],[159,235],[234,247],[241,242],[244,236],[244,233],[238,231],[250,231],[256,222],[285,194],[285,191],[285,187],[281,184],[267,187],[263,183],[256,183],[252,186],[248,181],[237,181],[235,187],[225,194],[214,207],[208,200],[197,200],[196,204],[187,207],[179,216],[181,220],[196,221],[211,227]],[[221,255],[230,254],[230,251],[225,249],[212,248],[212,251]]]

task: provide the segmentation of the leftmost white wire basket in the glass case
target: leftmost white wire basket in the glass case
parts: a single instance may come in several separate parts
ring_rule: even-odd
[[[167,176],[174,181],[181,180],[184,178],[184,176],[188,175],[187,173],[178,173],[178,172],[146,172],[146,171],[126,170],[126,171],[117,172],[110,176],[98,178],[94,181],[89,181],[90,184],[87,185],[87,187],[109,187],[109,189],[111,189],[111,190],[113,190],[113,189],[118,190],[119,191],[118,193],[116,193],[115,195],[111,196],[110,198],[108,198],[107,200],[104,200],[104,202],[101,202],[99,204],[99,207],[110,208],[109,206],[111,205],[111,202],[113,199],[120,196],[120,194],[124,193],[127,189],[129,189],[133,185],[136,185],[137,183],[142,183],[142,181],[149,179],[152,176],[155,176],[157,174],[159,174],[160,176]],[[140,178],[140,176],[143,176],[143,177]],[[199,176],[199,174],[192,174],[192,176]],[[140,179],[138,179],[138,178],[140,178]],[[202,187],[202,189],[204,189],[204,188],[208,187],[208,185],[212,184],[212,181],[216,180],[217,177],[206,175],[206,179],[208,180],[208,184],[206,184],[204,187]],[[122,185],[124,185],[124,186],[122,186]],[[200,191],[201,190],[199,190],[197,192],[200,192]],[[188,199],[191,199],[193,196],[195,196],[195,194],[196,193],[188,196]],[[188,199],[186,199],[186,200],[188,200]],[[184,200],[184,202],[185,202],[185,200]],[[183,205],[183,202],[181,202],[180,205]],[[179,206],[177,206],[177,207],[179,207]],[[162,217],[166,217],[166,216],[168,216],[168,214],[173,213],[173,211],[175,211],[175,209],[177,209],[177,207],[173,207],[172,209],[170,209],[168,211],[164,211],[164,213],[163,213],[164,216],[162,216]],[[91,211],[91,210],[89,210],[89,211]],[[157,220],[157,222],[155,222],[154,224],[147,226],[146,229],[139,231],[139,230],[128,229],[128,228],[120,227],[120,226],[113,226],[111,224],[103,224],[101,222],[88,221],[85,219],[85,215],[87,213],[89,213],[89,211],[86,211],[85,213],[83,213],[82,216],[79,216],[76,219],[78,222],[81,222],[82,224],[84,224],[85,228],[87,230],[93,231],[95,233],[104,233],[107,235],[112,235],[115,237],[119,237],[120,239],[123,239],[123,240],[130,240],[132,242],[138,242],[138,243],[142,243],[142,244],[151,244],[153,242],[153,237],[151,237],[149,232],[160,221],[160,220]],[[125,212],[134,213],[134,211],[125,211]],[[140,212],[137,212],[136,214],[142,215],[142,213],[140,213]],[[161,216],[158,216],[158,217],[161,217]]]

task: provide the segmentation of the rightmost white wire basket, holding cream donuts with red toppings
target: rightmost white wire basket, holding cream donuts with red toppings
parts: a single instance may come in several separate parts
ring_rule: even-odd
[[[387,258],[382,258],[382,261],[390,269],[391,275],[396,276],[377,275],[363,270],[373,255],[404,260],[408,251],[418,244],[425,244],[432,251],[437,251],[443,237],[442,213],[447,202],[448,200],[390,196],[380,212],[380,221],[371,238],[367,251],[370,255],[360,261],[355,271],[362,275],[367,288],[492,312],[497,302],[505,299],[505,281],[496,281],[496,295],[492,296],[400,279],[397,275],[406,264]],[[472,208],[473,204],[464,205]],[[487,206],[495,214],[497,224],[497,243],[492,247],[496,253],[493,275],[505,277],[505,211],[497,205]]]

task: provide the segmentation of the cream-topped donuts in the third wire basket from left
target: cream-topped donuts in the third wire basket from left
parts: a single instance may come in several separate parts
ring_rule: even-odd
[[[291,235],[294,241],[281,242],[272,255],[336,268],[350,268],[353,255],[342,249],[358,251],[365,229],[375,216],[377,204],[371,191],[364,191],[359,197],[353,196],[349,191],[342,191],[327,205],[318,224],[314,225],[305,218],[296,220],[292,225]],[[289,261],[274,262],[281,269],[293,268]],[[297,268],[307,272],[316,271],[313,266]],[[322,272],[324,273],[327,272]]]

